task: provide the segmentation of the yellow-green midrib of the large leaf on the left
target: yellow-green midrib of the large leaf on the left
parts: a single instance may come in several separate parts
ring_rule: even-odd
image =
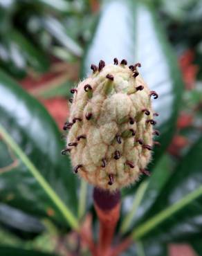
[[[15,152],[17,156],[21,159],[21,161],[26,165],[30,173],[35,177],[39,185],[41,185],[42,189],[46,192],[46,194],[49,196],[49,198],[53,201],[53,203],[57,206],[59,211],[64,216],[64,219],[68,222],[69,226],[73,228],[74,230],[79,230],[79,223],[77,219],[74,217],[71,210],[69,210],[64,202],[59,198],[59,196],[55,193],[55,191],[50,187],[48,182],[44,179],[44,177],[40,174],[39,170],[37,170],[37,167],[33,165],[33,163],[30,161],[28,156],[24,154],[22,149],[17,145],[15,140],[8,134],[6,129],[3,128],[2,125],[0,125],[0,133],[2,134],[3,138],[6,140],[6,143],[10,145],[10,148]]]

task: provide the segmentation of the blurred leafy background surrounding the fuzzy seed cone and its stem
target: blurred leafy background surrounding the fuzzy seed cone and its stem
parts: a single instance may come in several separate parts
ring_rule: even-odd
[[[201,0],[0,0],[1,255],[89,255],[72,229],[90,215],[98,235],[92,188],[59,155],[62,126],[69,89],[113,57],[140,61],[162,99],[162,147],[152,177],[122,191],[116,243],[133,234],[123,255],[180,255],[177,242],[202,255],[201,25]]]

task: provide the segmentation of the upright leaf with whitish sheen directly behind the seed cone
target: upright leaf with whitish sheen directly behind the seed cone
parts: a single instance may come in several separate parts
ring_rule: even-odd
[[[157,122],[161,133],[158,139],[161,148],[155,148],[156,163],[174,132],[182,80],[160,20],[144,1],[104,1],[100,21],[85,53],[82,77],[91,73],[92,63],[98,64],[100,60],[111,63],[114,57],[125,58],[129,64],[140,62],[145,82],[159,95],[154,100],[154,110],[160,114]]]

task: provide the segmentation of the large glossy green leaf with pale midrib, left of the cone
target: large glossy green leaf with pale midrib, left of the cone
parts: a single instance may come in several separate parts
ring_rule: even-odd
[[[60,154],[64,143],[55,122],[3,71],[0,91],[1,140],[12,161],[1,158],[0,201],[77,228],[76,180]]]

